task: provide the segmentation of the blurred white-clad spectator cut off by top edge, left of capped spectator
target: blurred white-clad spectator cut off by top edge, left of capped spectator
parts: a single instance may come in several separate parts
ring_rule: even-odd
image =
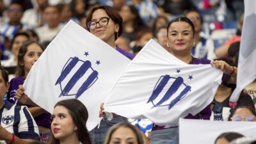
[[[26,10],[21,19],[23,24],[28,25],[30,29],[44,25],[43,13],[48,6],[48,0],[35,0],[36,4],[33,8]]]

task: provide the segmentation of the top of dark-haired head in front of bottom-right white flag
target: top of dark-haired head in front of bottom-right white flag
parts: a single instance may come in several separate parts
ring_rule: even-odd
[[[232,140],[243,137],[243,134],[239,134],[237,132],[224,132],[216,138],[214,144],[229,144]]]

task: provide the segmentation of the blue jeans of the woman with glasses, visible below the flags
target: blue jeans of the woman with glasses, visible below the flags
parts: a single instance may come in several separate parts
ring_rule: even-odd
[[[107,118],[103,118],[100,122],[100,127],[95,127],[92,131],[90,131],[90,136],[92,138],[92,143],[94,144],[103,144],[108,129],[119,122],[127,121],[127,118],[122,116],[116,116],[112,120],[108,120]]]

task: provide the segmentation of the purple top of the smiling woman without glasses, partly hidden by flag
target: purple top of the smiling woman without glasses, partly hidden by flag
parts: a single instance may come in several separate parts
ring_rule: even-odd
[[[205,59],[198,59],[198,58],[193,58],[192,57],[192,61],[189,62],[189,64],[192,65],[199,65],[199,64],[210,64],[211,61],[210,60],[205,60]],[[210,108],[209,104],[206,108],[204,108],[202,111],[200,111],[200,113],[196,114],[195,116],[189,114],[188,116],[186,116],[185,118],[188,119],[200,119],[202,118],[203,120],[210,120],[211,117],[211,108]],[[155,130],[159,130],[159,129],[164,129],[165,126],[159,126],[159,125],[154,125],[152,131]]]

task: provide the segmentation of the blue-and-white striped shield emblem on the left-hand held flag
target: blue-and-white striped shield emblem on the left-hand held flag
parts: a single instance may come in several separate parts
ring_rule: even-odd
[[[60,84],[60,96],[79,98],[98,79],[98,72],[93,70],[91,61],[70,58],[64,65],[56,84]],[[79,82],[79,83],[78,83]]]

